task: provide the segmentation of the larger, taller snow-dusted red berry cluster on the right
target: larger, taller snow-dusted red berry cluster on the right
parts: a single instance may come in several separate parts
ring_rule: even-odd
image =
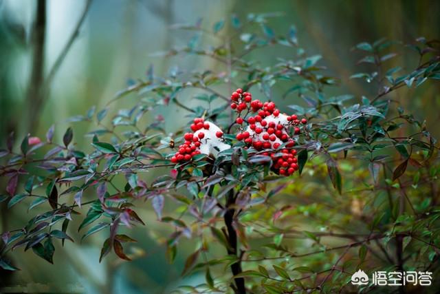
[[[263,151],[262,154],[265,156],[271,156],[274,162],[272,169],[277,174],[289,176],[298,170],[296,150],[291,149],[295,141],[290,133],[293,128],[294,134],[300,134],[298,126],[305,125],[307,120],[299,120],[295,114],[281,114],[275,103],[252,100],[252,94],[241,89],[232,93],[231,100],[231,108],[239,114],[236,123],[241,125],[241,132],[236,134],[236,139],[243,140],[248,147]],[[248,112],[241,117],[244,110]],[[254,115],[248,116],[250,113]],[[248,127],[244,129],[243,124],[248,124]],[[277,150],[283,144],[285,148]]]

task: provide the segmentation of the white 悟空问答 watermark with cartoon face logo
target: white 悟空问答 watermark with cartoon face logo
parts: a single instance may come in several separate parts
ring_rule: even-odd
[[[351,276],[351,284],[369,284],[369,276],[359,269]],[[430,271],[375,271],[371,275],[371,284],[375,286],[405,286],[420,285],[430,286],[432,284],[432,272]]]

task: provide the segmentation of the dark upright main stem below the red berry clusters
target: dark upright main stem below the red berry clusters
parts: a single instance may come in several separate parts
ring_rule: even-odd
[[[226,200],[226,212],[223,216],[225,220],[226,229],[228,231],[228,242],[229,242],[229,248],[228,254],[237,255],[239,257],[239,261],[235,262],[231,265],[231,271],[232,275],[238,275],[242,272],[241,270],[241,256],[237,252],[237,237],[236,237],[236,231],[232,225],[232,222],[234,221],[234,213],[235,209],[233,208],[235,204],[235,198],[234,198],[234,191],[230,191],[228,193],[228,199]],[[232,287],[234,289],[234,292],[236,294],[245,294],[246,288],[245,288],[245,280],[243,277],[236,277],[234,279],[235,286]]]

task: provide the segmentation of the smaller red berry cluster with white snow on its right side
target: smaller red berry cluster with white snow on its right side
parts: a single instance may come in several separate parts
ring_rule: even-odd
[[[197,154],[206,154],[217,157],[219,152],[230,149],[231,145],[223,143],[223,132],[203,118],[195,118],[190,126],[194,133],[184,134],[184,144],[180,145],[171,162],[187,162]]]

